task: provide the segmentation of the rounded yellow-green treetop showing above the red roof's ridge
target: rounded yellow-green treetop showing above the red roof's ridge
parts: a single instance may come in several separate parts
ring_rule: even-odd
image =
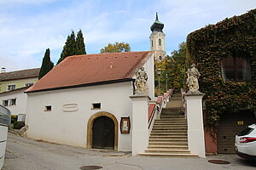
[[[108,46],[101,49],[102,53],[120,53],[120,52],[130,52],[130,44],[125,42],[115,42],[113,44],[108,43]]]

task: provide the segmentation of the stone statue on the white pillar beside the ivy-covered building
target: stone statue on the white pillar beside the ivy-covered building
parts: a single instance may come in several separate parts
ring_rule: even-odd
[[[189,94],[200,93],[198,78],[201,76],[200,72],[195,68],[195,64],[187,71],[187,84],[189,86]]]

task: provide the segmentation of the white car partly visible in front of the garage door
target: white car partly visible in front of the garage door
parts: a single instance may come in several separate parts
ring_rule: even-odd
[[[248,160],[256,160],[256,123],[236,135],[236,154]]]

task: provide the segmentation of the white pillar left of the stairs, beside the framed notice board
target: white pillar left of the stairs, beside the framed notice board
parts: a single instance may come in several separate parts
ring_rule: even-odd
[[[144,152],[148,147],[148,102],[147,95],[130,96],[132,100],[132,150],[131,155]]]

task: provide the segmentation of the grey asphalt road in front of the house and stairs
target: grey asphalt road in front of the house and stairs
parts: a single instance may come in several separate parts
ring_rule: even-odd
[[[230,161],[230,164],[208,162],[216,159]],[[3,170],[79,170],[83,166],[101,166],[101,169],[111,170],[255,170],[256,162],[245,161],[236,155],[207,158],[131,156],[125,152],[49,144],[9,133]]]

